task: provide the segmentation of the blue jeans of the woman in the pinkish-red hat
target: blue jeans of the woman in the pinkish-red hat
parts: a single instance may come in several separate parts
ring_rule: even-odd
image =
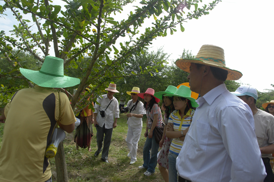
[[[151,157],[150,157],[151,149]],[[159,149],[159,144],[156,143],[154,133],[152,138],[146,137],[144,146],[143,146],[143,167],[147,169],[149,173],[154,173],[157,166],[157,153]]]

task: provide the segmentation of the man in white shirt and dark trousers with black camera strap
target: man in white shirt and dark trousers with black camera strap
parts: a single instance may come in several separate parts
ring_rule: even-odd
[[[119,118],[119,103],[118,100],[113,96],[115,93],[119,93],[116,90],[116,84],[110,84],[105,90],[108,94],[102,95],[97,99],[98,104],[94,106],[94,126],[97,130],[97,146],[98,149],[94,156],[98,156],[102,151],[102,145],[104,141],[104,148],[102,152],[102,160],[109,163],[109,149],[111,144],[111,137],[113,128],[117,126],[117,120]],[[114,119],[115,118],[115,119]],[[105,134],[105,140],[104,140]]]

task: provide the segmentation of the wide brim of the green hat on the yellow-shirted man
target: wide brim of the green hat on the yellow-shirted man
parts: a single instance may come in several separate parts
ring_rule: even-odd
[[[41,87],[50,88],[66,88],[78,85],[80,83],[79,78],[73,78],[70,76],[52,76],[49,74],[44,74],[39,71],[34,71],[30,69],[20,68],[20,72],[27,79]]]

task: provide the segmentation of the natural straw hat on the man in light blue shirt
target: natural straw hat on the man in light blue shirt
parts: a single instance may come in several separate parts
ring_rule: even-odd
[[[240,71],[226,67],[225,52],[222,48],[213,45],[203,45],[195,59],[180,59],[175,64],[182,70],[190,72],[191,63],[198,63],[218,67],[228,71],[227,80],[238,80],[243,74]]]

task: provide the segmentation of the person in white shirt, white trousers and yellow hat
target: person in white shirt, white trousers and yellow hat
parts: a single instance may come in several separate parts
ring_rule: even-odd
[[[138,100],[138,95],[140,93],[140,89],[138,87],[133,87],[131,92],[127,92],[127,94],[131,95],[132,100],[130,100],[127,104],[127,108],[129,108],[128,117],[128,134],[126,138],[126,142],[130,149],[130,153],[128,157],[131,157],[130,164],[134,164],[137,161],[137,148],[138,141],[141,136],[142,131],[142,117],[146,114],[143,103]]]

